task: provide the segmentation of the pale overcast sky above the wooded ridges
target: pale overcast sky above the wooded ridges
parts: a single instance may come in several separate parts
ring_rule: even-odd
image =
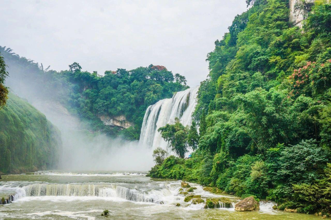
[[[165,66],[190,86],[208,75],[207,54],[245,0],[2,0],[0,46],[60,71]]]

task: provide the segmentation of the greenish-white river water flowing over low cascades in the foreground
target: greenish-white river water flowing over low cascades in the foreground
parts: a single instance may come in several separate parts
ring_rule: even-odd
[[[260,211],[237,212],[232,208],[204,209],[204,204],[184,202],[178,194],[181,181],[157,180],[146,172],[54,172],[6,175],[0,196],[14,194],[14,201],[0,205],[0,219],[320,219],[314,215],[287,213],[260,202]],[[194,194],[214,195],[200,185]],[[180,203],[181,206],[175,206]],[[233,203],[234,204],[234,203]],[[109,209],[110,216],[101,216]]]

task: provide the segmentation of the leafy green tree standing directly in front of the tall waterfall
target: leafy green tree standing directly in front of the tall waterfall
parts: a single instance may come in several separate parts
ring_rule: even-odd
[[[177,154],[179,158],[184,158],[188,152],[187,135],[188,128],[180,123],[179,118],[175,118],[175,124],[166,124],[158,129],[161,136],[168,142],[168,147]]]

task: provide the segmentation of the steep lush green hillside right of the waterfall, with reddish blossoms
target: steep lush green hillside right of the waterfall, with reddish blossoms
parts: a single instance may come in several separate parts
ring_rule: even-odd
[[[289,23],[289,1],[246,2],[207,56],[194,113],[198,149],[149,175],[330,215],[331,4],[317,1],[300,29]],[[185,135],[163,137],[173,146]]]

